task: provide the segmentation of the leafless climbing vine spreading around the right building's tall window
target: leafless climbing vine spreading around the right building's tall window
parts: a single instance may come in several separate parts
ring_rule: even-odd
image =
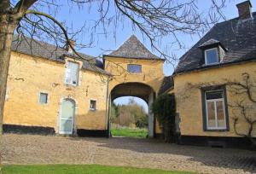
[[[247,138],[252,147],[256,148],[256,140],[253,137],[253,129],[256,126],[256,78],[254,77],[255,74],[253,73],[242,73],[240,80],[224,78],[220,82],[187,83],[179,100],[182,101],[193,97],[194,92],[191,92],[193,89],[200,90],[207,86],[225,85],[230,92],[227,104],[233,113],[231,119],[233,119],[234,131],[237,136]]]

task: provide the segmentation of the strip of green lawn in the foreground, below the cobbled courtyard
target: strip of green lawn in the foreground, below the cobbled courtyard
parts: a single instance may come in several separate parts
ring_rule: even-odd
[[[3,165],[3,174],[182,174],[183,171],[161,171],[156,169],[139,169],[105,165]]]

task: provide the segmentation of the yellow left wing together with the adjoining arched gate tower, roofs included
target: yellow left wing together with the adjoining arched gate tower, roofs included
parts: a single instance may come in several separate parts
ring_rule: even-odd
[[[104,55],[103,63],[74,55],[70,48],[55,50],[54,45],[15,38],[3,131],[109,136],[108,107],[115,98],[138,96],[151,106],[164,77],[164,60],[131,36]],[[133,72],[136,67],[140,72]],[[154,137],[160,130],[149,115],[149,136]]]

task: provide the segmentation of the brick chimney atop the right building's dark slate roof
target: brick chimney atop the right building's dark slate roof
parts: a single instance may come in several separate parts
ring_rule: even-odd
[[[239,13],[239,19],[245,20],[252,17],[252,3],[250,1],[245,1],[236,4]]]

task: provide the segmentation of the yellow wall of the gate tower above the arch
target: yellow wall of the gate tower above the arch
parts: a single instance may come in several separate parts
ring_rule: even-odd
[[[164,78],[164,61],[129,59],[121,57],[111,57],[108,55],[104,57],[104,60],[105,70],[113,75],[112,80],[109,81],[109,92],[113,90],[113,88],[118,84],[137,82],[142,84],[148,84],[154,90],[155,94],[158,94]],[[142,73],[128,73],[128,64],[142,65]],[[159,125],[156,121],[155,133],[160,132],[161,131]]]

